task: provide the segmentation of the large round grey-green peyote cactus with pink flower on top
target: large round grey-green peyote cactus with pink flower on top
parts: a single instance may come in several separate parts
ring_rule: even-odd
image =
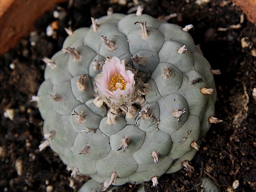
[[[191,160],[214,115],[210,64],[181,28],[108,12],[72,32],[38,91],[45,140],[77,173],[109,185],[153,181]]]

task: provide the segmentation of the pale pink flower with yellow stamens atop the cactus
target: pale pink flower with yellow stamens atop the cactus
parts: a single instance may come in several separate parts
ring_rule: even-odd
[[[95,79],[95,84],[100,92],[107,97],[123,99],[132,94],[135,81],[134,74],[130,70],[125,70],[124,60],[112,57],[105,61],[102,66],[101,75]]]

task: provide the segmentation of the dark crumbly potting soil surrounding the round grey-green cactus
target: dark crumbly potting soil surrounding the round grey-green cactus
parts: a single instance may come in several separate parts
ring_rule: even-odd
[[[58,154],[50,148],[39,152],[38,146],[44,140],[43,120],[36,102],[30,102],[31,96],[36,95],[44,81],[42,59],[60,50],[67,36],[65,27],[70,26],[73,30],[89,27],[91,16],[99,18],[106,15],[108,7],[112,7],[114,12],[131,12],[135,10],[132,7],[137,1],[120,0],[119,4],[116,3],[118,0],[70,2],[55,6],[54,10],[60,13],[59,18],[54,18],[52,11],[36,20],[36,32],[30,38],[21,39],[12,51],[0,57],[1,191],[76,191],[88,180],[87,176],[71,178]],[[255,26],[245,17],[244,21],[240,20],[241,10],[230,1],[139,2],[144,6],[143,12],[153,17],[164,19],[171,13],[177,13],[177,17],[168,22],[183,27],[194,25],[189,33],[195,44],[200,44],[212,69],[221,71],[221,75],[214,76],[218,93],[215,116],[223,119],[222,123],[212,124],[199,152],[190,162],[194,171],[184,168],[173,174],[164,174],[158,179],[157,187],[152,187],[151,181],[145,182],[145,187],[148,191],[159,192],[200,191],[200,178],[209,177],[221,191],[255,191]],[[45,34],[50,24],[55,28],[53,36]],[[6,118],[6,113],[4,117],[6,110],[12,120]],[[239,182],[236,190],[232,188],[233,183],[237,183],[235,180]],[[126,184],[116,191],[136,191],[140,186]]]

